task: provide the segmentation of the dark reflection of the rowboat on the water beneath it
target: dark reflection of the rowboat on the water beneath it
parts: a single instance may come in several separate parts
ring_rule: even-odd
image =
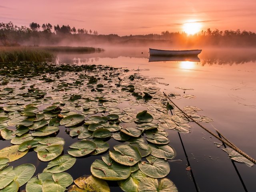
[[[158,62],[158,61],[192,61],[200,62],[198,56],[152,56],[148,58],[148,62]]]

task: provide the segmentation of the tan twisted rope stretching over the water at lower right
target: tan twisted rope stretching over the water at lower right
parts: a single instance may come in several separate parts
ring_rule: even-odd
[[[165,92],[163,92],[164,95],[166,96],[166,98],[168,98],[170,100],[170,102],[172,102],[172,100],[165,94]],[[230,148],[232,148],[233,150],[235,150],[236,152],[238,152],[239,154],[241,154],[242,156],[244,156],[246,159],[250,160],[251,162],[253,162],[254,164],[256,164],[256,160],[254,160],[253,158],[251,158],[248,154],[244,153],[242,150],[240,150],[238,147],[236,147],[234,144],[232,144],[230,141],[226,141],[222,138],[220,138],[218,135],[214,134],[213,132],[211,132],[210,130],[208,130],[207,128],[205,128],[204,126],[202,126],[201,124],[199,124],[198,122],[196,122],[196,120],[194,120],[190,115],[186,114],[182,109],[180,109],[174,102],[172,102],[172,104],[174,104],[174,106],[176,106],[185,116],[187,116],[188,118],[190,118],[193,122],[195,122],[196,124],[198,124],[198,126],[200,126],[201,128],[203,128],[204,130],[206,130],[208,133],[210,133],[212,136],[214,136],[215,138],[217,138],[218,140],[220,140],[221,142],[223,142],[224,144],[226,144],[227,146],[229,146]],[[218,132],[218,130],[216,130]],[[219,133],[219,132],[218,132]],[[222,137],[223,135],[220,134]],[[225,138],[225,137],[223,137]],[[226,139],[226,138],[225,138]]]

